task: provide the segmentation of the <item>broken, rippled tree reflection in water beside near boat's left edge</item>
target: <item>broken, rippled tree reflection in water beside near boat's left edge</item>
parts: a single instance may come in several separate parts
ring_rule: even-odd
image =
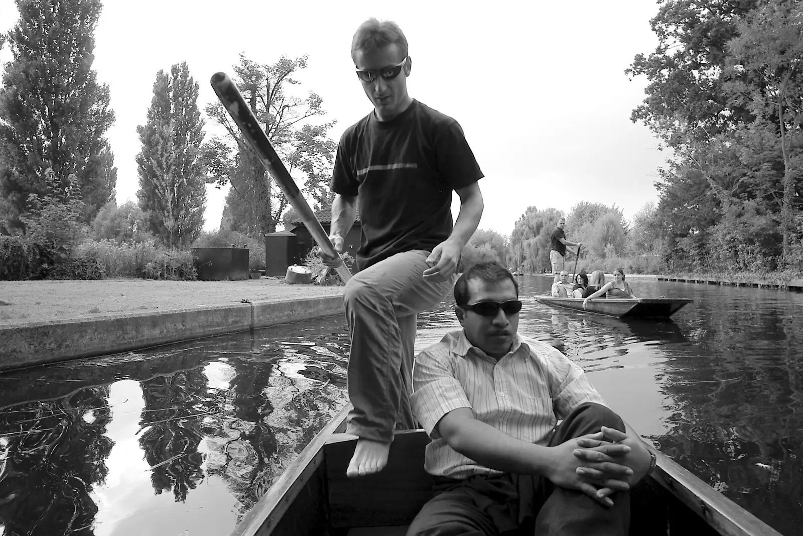
[[[230,360],[235,374],[226,403],[234,412],[205,419],[206,473],[227,482],[241,516],[345,402],[344,370],[311,359],[344,357],[321,344],[275,342],[260,349],[259,358]],[[321,380],[322,374],[337,378]]]

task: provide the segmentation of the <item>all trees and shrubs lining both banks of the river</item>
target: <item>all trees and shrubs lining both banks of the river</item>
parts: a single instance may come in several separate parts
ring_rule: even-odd
[[[650,21],[658,47],[635,55],[626,70],[648,81],[631,120],[647,125],[668,155],[655,183],[658,202],[630,221],[618,207],[578,203],[565,215],[568,235],[585,244],[578,264],[799,272],[803,5],[658,3]],[[76,252],[102,249],[82,246],[87,239],[186,251],[215,240],[259,243],[286,223],[287,200],[226,110],[218,103],[198,108],[198,83],[186,63],[156,74],[145,125],[137,127],[137,201],[118,206],[106,137],[115,116],[108,85],[92,69],[100,1],[17,6],[18,23],[0,35],[12,54],[0,88],[0,278],[47,276]],[[336,144],[320,96],[298,96],[296,75],[307,60],[261,64],[243,54],[233,78],[320,208],[331,203]],[[210,127],[218,134],[207,136]],[[202,233],[208,184],[230,185],[215,236]],[[463,266],[496,259],[521,272],[548,269],[549,235],[560,215],[528,207],[511,235],[478,231]]]

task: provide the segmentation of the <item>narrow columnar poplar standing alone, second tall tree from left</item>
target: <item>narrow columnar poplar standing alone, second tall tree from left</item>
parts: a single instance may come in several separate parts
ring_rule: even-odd
[[[150,231],[168,247],[190,244],[203,227],[206,169],[198,83],[187,63],[170,73],[157,72],[148,122],[138,126],[140,207],[149,214]]]

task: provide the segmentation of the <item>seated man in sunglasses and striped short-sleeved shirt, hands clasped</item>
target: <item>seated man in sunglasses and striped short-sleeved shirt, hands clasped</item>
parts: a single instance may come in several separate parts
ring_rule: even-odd
[[[408,536],[627,534],[628,489],[654,455],[579,366],[516,333],[521,302],[505,268],[470,268],[454,299],[463,330],[414,365],[410,403],[432,439],[436,494]]]

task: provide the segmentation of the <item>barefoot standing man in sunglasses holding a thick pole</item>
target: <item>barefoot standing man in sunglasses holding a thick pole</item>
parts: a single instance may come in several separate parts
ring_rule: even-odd
[[[362,23],[352,59],[373,111],[340,138],[329,239],[343,252],[359,204],[359,272],[344,291],[354,406],[346,432],[360,438],[346,473],[356,477],[381,471],[393,428],[414,423],[408,397],[416,314],[451,289],[460,253],[483,214],[477,184],[483,173],[458,122],[408,95],[413,62],[396,23]],[[452,190],[460,198],[454,228]],[[321,257],[329,266],[342,262]]]

